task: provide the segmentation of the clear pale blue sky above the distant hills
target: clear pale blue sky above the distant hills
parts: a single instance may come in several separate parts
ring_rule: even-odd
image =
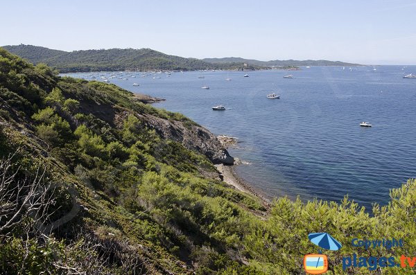
[[[3,0],[0,45],[416,64],[416,1]]]

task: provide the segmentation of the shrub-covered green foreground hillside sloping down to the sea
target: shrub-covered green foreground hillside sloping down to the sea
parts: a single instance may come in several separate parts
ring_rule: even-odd
[[[0,274],[304,274],[311,232],[343,244],[327,274],[379,274],[343,271],[353,253],[415,255],[415,180],[372,215],[347,198],[268,205],[220,181],[232,157],[209,131],[141,100],[0,48]]]

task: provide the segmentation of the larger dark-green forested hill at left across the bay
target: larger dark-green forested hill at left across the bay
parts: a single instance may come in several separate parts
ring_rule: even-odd
[[[150,48],[111,48],[108,50],[58,51],[41,46],[20,44],[3,46],[34,64],[45,63],[60,73],[80,71],[177,70],[205,69],[265,69],[263,66],[243,66],[243,63],[213,64],[196,58],[166,55]]]

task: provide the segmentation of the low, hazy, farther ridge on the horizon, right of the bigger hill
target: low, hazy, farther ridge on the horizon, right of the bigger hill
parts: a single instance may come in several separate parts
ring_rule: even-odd
[[[361,66],[360,64],[329,60],[250,60],[241,57],[204,58],[203,61],[213,64],[247,63],[256,66]]]

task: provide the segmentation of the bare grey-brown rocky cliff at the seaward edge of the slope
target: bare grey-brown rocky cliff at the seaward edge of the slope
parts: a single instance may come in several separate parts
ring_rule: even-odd
[[[142,114],[141,121],[150,129],[154,129],[162,138],[177,141],[189,150],[205,154],[214,164],[234,164],[234,158],[229,155],[218,138],[196,123],[167,120],[150,114]]]

